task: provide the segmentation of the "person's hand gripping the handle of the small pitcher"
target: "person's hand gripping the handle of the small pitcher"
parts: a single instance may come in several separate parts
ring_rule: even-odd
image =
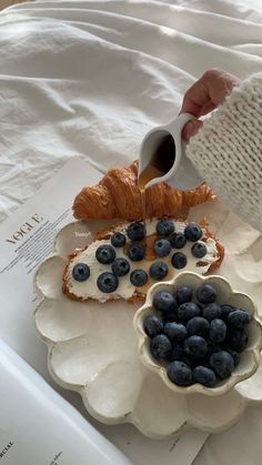
[[[199,118],[213,111],[225,97],[232,91],[234,85],[239,85],[240,80],[226,71],[212,69],[205,71],[184,94],[180,113],[191,113],[198,120],[189,121],[182,131],[182,138],[189,140],[196,134],[203,124]]]

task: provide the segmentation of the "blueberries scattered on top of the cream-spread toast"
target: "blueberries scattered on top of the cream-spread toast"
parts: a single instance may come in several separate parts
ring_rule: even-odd
[[[175,224],[171,220],[160,220],[155,226],[155,241],[153,250],[158,259],[170,255],[171,266],[181,270],[187,266],[187,255],[181,251],[190,242],[191,253],[196,259],[202,259],[206,254],[206,246],[203,242],[198,242],[202,237],[202,230],[195,223],[189,223],[183,232],[175,231]],[[98,276],[97,285],[104,293],[114,292],[119,285],[119,279],[130,273],[130,262],[144,260],[147,254],[145,225],[135,221],[127,229],[127,236],[122,232],[114,232],[111,235],[111,244],[98,246],[95,257],[99,263],[111,265],[111,271],[105,271]],[[127,243],[128,237],[128,243]],[[125,257],[115,257],[115,249],[124,247]],[[169,266],[161,260],[152,261],[149,275],[155,281],[163,280],[169,273]],[[90,276],[90,267],[85,263],[77,263],[72,270],[72,276],[77,281],[87,281]],[[148,273],[139,266],[130,273],[130,282],[135,287],[141,287],[148,282]]]

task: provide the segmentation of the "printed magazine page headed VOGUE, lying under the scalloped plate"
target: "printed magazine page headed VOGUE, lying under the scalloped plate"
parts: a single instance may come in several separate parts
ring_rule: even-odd
[[[62,396],[77,406],[135,465],[190,465],[205,442],[191,429],[175,441],[152,441],[132,425],[108,426],[91,418],[80,396],[57,386],[47,368],[47,348],[37,337],[32,314],[37,304],[32,280],[38,264],[52,251],[58,231],[72,221],[75,194],[94,184],[101,173],[73,159],[22,208],[0,225],[0,337],[33,366]]]

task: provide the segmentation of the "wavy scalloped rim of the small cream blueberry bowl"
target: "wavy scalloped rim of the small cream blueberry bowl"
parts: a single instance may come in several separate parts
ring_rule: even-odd
[[[213,281],[223,282],[223,285],[228,286],[231,295],[238,294],[248,299],[251,303],[251,309],[253,311],[252,312],[253,324],[259,328],[259,336],[256,341],[254,342],[252,348],[246,351],[252,354],[252,363],[250,364],[249,370],[246,370],[244,373],[232,373],[228,378],[222,381],[221,384],[218,385],[216,387],[215,386],[208,387],[200,383],[194,383],[194,384],[191,384],[190,386],[179,386],[172,383],[172,381],[168,377],[165,366],[160,365],[157,361],[154,362],[152,356],[149,353],[148,342],[150,341],[150,338],[143,331],[142,322],[143,322],[144,316],[150,314],[149,310],[152,309],[152,296],[158,290],[170,289],[170,287],[175,286],[178,281],[183,281],[184,279],[187,280],[187,276],[191,276],[191,277],[193,276],[195,280],[199,280],[200,284],[206,283],[206,282],[213,282]],[[230,282],[221,275],[211,274],[211,275],[203,276],[195,272],[184,271],[177,274],[170,281],[158,282],[153,284],[148,291],[144,304],[140,309],[138,309],[138,311],[134,314],[133,327],[139,338],[138,353],[143,365],[145,365],[149,370],[155,372],[162,378],[163,383],[169,388],[177,392],[178,394],[204,394],[209,396],[223,395],[223,394],[226,394],[230,390],[232,390],[241,381],[244,381],[251,377],[259,367],[260,352],[262,350],[262,323],[259,317],[258,305],[249,294],[233,290]],[[245,352],[245,350],[243,352]]]

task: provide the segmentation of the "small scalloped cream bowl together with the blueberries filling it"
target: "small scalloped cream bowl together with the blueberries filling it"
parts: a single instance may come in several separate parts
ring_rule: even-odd
[[[221,395],[259,366],[258,309],[224,277],[182,272],[157,283],[133,323],[143,364],[178,393]]]

